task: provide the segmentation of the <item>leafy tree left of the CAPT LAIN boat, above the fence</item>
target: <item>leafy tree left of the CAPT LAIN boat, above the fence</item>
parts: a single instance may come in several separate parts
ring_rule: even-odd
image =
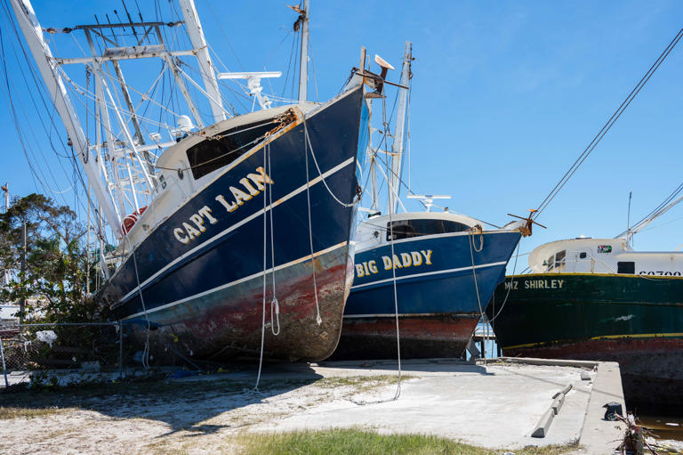
[[[25,272],[20,266],[23,223],[27,231]],[[98,305],[85,295],[84,234],[84,226],[69,207],[57,206],[42,194],[15,198],[7,212],[0,214],[0,269],[14,277],[0,289],[0,301],[26,299],[25,321],[100,320]]]

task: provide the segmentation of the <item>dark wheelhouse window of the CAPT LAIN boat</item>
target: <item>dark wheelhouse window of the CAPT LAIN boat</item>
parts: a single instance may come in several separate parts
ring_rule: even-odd
[[[193,145],[187,151],[192,176],[198,179],[216,169],[228,166],[261,142],[264,134],[271,129],[273,129],[272,120],[261,120],[230,128]]]

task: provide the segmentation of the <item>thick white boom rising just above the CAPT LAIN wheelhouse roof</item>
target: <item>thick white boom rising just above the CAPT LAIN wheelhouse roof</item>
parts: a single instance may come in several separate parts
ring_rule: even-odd
[[[221,120],[225,120],[225,111],[221,102],[221,93],[218,91],[216,75],[213,72],[213,63],[204,37],[204,30],[197,15],[197,8],[195,7],[194,0],[179,0],[179,3],[181,4],[185,26],[188,28],[189,40],[195,49],[199,69],[202,71],[205,92],[209,99],[209,104],[211,104],[211,112],[213,113],[213,123],[218,123]]]

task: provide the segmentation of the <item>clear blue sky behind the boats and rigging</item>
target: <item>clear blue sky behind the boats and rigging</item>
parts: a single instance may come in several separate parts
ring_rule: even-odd
[[[145,15],[153,11],[151,3],[139,3]],[[404,42],[412,41],[413,189],[451,194],[448,207],[498,224],[540,203],[683,27],[677,1],[311,3],[318,99],[338,93],[358,65],[361,45],[398,69]],[[136,9],[133,0],[127,4]],[[91,23],[93,13],[123,9],[102,0],[36,0],[34,7],[44,27]],[[284,0],[197,0],[197,8],[208,41],[230,69],[286,71],[295,14]],[[15,38],[5,33],[4,39]],[[12,71],[14,63],[7,64]],[[682,81],[677,47],[539,218],[549,229],[523,240],[522,252],[580,234],[612,237],[625,229],[629,191],[631,219],[638,219],[679,185]],[[316,98],[312,83],[309,93]],[[0,181],[15,194],[41,190],[16,140],[4,87],[0,128]],[[52,150],[38,136],[50,161]],[[53,189],[68,189],[71,175],[53,168],[59,187]],[[73,201],[73,191],[62,197]],[[677,248],[681,218],[683,207],[674,208],[653,224],[660,227],[636,236],[636,248]]]

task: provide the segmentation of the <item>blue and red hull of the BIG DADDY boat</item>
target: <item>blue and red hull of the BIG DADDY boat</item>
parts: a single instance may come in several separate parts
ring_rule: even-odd
[[[481,251],[477,251],[479,234],[472,237],[466,232],[394,242],[401,264],[395,269],[396,281],[389,264],[390,245],[358,252],[342,337],[333,357],[397,356],[394,282],[401,357],[460,357],[520,238],[512,231],[484,232],[483,236]],[[416,266],[417,254],[422,255],[422,262]],[[411,256],[410,265],[406,255]],[[371,261],[378,264],[377,272],[367,267],[367,274],[365,264]]]

